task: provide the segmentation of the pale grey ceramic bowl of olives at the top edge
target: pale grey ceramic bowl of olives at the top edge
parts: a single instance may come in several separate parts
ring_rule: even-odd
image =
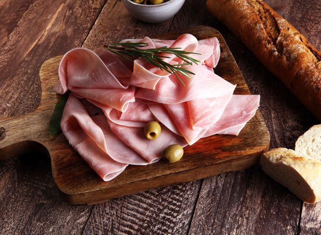
[[[156,5],[137,4],[131,0],[121,2],[133,17],[147,23],[162,23],[180,11],[185,0],[170,0]]]

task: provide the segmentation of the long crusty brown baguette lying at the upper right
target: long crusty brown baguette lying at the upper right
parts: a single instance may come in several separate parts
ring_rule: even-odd
[[[321,53],[261,0],[208,0],[206,4],[321,120]]]

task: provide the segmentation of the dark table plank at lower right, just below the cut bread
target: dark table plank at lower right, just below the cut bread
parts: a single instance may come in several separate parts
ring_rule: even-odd
[[[273,184],[255,168],[204,179],[189,233],[296,234],[300,202]]]

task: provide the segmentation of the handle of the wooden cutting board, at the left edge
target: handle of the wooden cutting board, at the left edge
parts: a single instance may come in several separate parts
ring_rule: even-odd
[[[37,142],[35,113],[0,119],[0,160],[7,160],[28,152],[43,152]],[[43,126],[43,125],[40,125]]]

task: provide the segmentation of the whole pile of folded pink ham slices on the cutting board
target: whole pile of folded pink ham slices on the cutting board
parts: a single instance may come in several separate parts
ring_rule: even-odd
[[[104,180],[119,175],[129,164],[158,161],[172,144],[183,147],[215,134],[238,135],[255,114],[259,95],[233,95],[231,84],[214,73],[220,58],[217,38],[198,41],[184,34],[177,40],[127,39],[145,48],[181,48],[201,61],[185,66],[191,79],[161,70],[145,60],[133,62],[103,48],[76,48],[60,62],[60,94],[71,91],[61,129],[72,147]],[[182,61],[165,54],[168,63]],[[156,140],[144,137],[150,121],[162,127]],[[209,146],[209,148],[211,148]]]

